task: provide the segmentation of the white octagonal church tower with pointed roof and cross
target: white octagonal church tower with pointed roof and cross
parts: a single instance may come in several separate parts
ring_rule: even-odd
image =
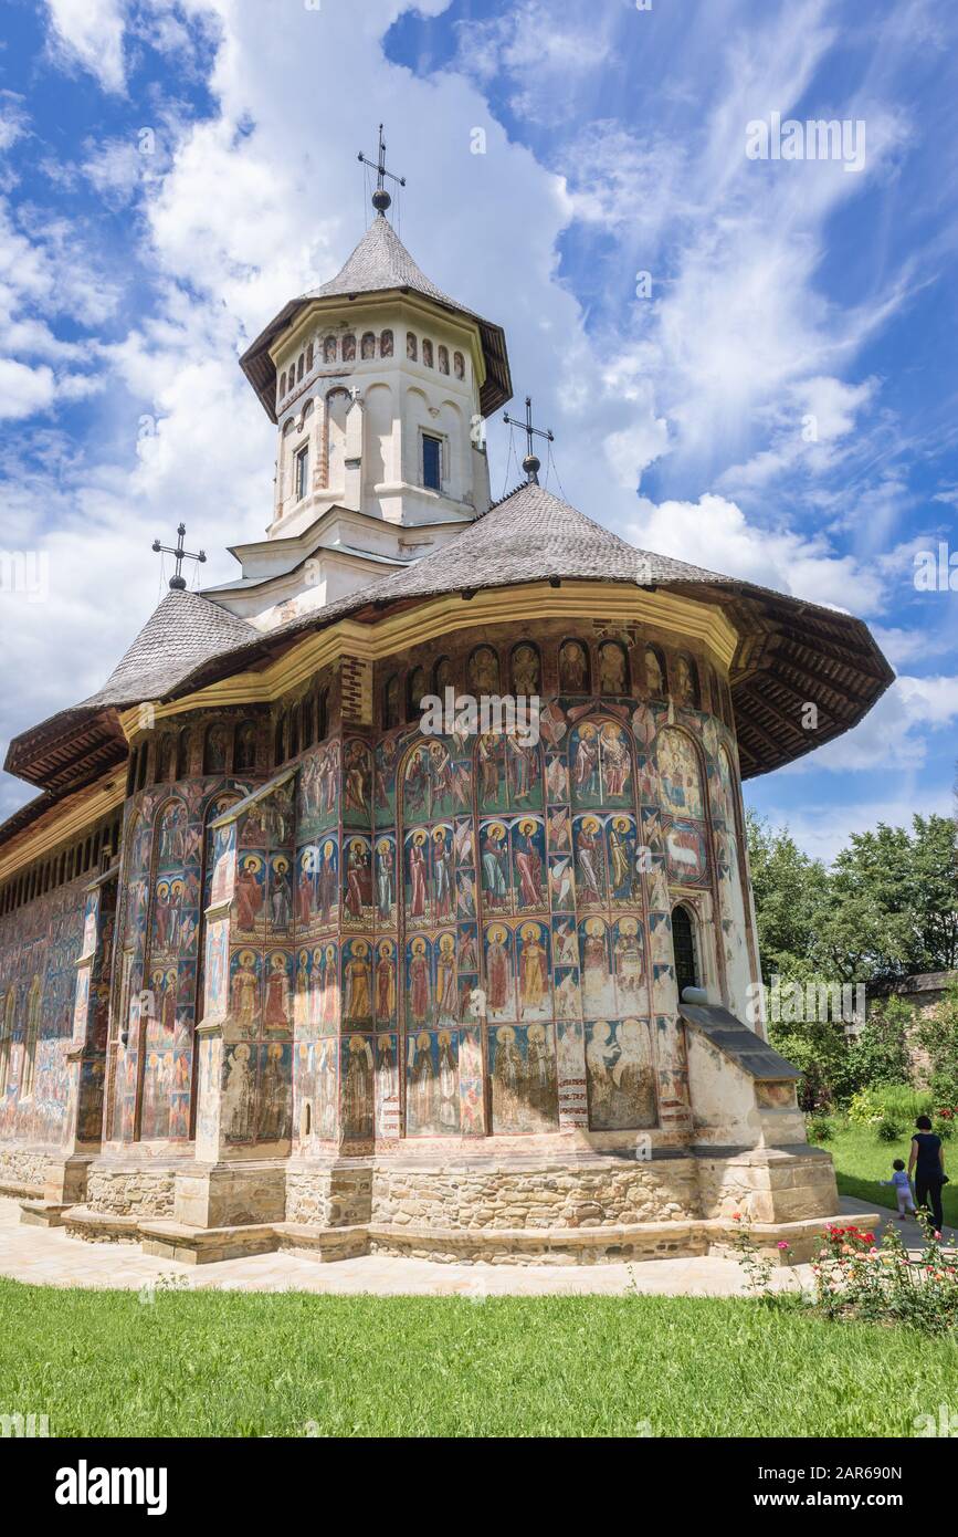
[[[243,576],[207,595],[264,630],[431,553],[490,504],[484,418],[511,397],[505,335],[399,240],[382,128],[365,163],[362,240],[241,358],[276,424],[273,509],[266,539],[232,550]]]

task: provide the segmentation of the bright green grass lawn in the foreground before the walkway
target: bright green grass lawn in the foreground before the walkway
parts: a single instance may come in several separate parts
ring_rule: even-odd
[[[143,1305],[0,1280],[0,1413],[48,1414],[51,1436],[910,1436],[956,1396],[958,1340],[795,1299]]]

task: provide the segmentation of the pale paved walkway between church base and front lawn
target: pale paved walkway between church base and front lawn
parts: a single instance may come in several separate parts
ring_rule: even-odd
[[[867,1203],[841,1200],[854,1222]],[[874,1208],[872,1208],[874,1210]],[[889,1220],[895,1222],[889,1213]],[[898,1225],[898,1223],[895,1223]],[[921,1234],[913,1222],[901,1223],[909,1248]],[[106,1286],[140,1291],[157,1282],[189,1290],[373,1293],[376,1296],[494,1297],[562,1296],[629,1290],[676,1297],[737,1297],[745,1279],[732,1259],[657,1259],[631,1265],[436,1265],[428,1260],[388,1259],[376,1254],[321,1263],[298,1254],[255,1254],[218,1265],[183,1265],[141,1254],[137,1243],[84,1243],[61,1228],[20,1222],[15,1200],[0,1197],[0,1276],[45,1286]],[[808,1286],[808,1265],[775,1270],[772,1283]]]

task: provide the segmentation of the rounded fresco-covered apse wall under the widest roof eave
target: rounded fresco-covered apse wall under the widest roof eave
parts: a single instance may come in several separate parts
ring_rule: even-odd
[[[345,853],[347,899],[350,861],[355,885],[372,875],[378,1136],[680,1128],[674,905],[702,985],[740,1008],[751,979],[728,689],[637,632],[436,652],[378,670],[373,847]],[[540,741],[422,736],[415,704],[447,684],[540,693]]]

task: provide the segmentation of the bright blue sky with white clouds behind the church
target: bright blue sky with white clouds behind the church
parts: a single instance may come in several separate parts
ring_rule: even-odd
[[[183,518],[204,583],[261,535],[273,437],[236,357],[362,234],[356,152],[382,117],[402,238],[505,326],[517,397],[556,432],[553,487],[636,544],[860,613],[894,662],[857,732],[751,804],[826,858],[952,808],[958,595],[913,572],[940,541],[958,566],[958,14],[6,0],[0,18],[2,538],[35,575],[0,593],[5,742],[103,682],[161,596],[155,535]],[[863,123],[863,163],[749,158],[771,114]],[[490,452],[497,495],[499,424]],[[31,793],[3,776],[0,813]]]

